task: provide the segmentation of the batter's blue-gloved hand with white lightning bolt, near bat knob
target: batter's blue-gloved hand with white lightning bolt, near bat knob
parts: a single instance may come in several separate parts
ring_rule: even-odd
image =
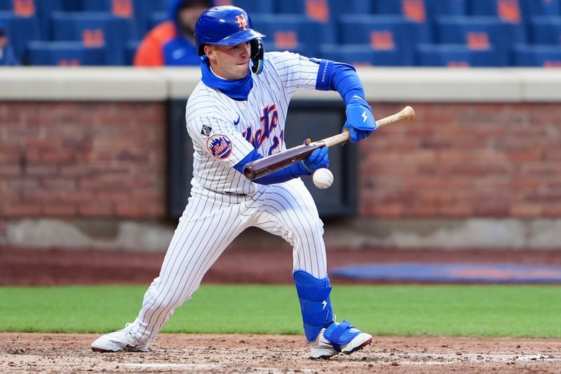
[[[376,120],[370,105],[359,96],[353,96],[349,105],[346,106],[345,128],[349,129],[351,143],[360,142],[370,136],[376,130]]]

